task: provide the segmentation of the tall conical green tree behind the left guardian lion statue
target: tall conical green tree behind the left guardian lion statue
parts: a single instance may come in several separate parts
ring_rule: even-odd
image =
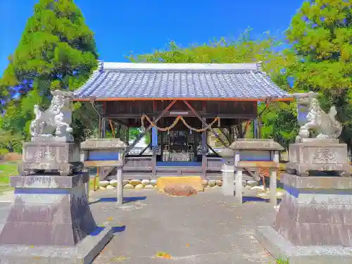
[[[80,87],[96,68],[97,58],[94,34],[73,0],[39,0],[0,81],[1,97],[11,99],[5,108],[11,126],[28,127],[34,103],[47,106],[51,90]],[[17,93],[19,98],[13,99]],[[76,123],[75,136],[80,138],[84,120]]]

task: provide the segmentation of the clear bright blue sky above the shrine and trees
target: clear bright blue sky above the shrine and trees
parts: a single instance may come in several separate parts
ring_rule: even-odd
[[[33,6],[39,0],[0,0],[0,76],[13,54]],[[127,61],[131,51],[144,54],[236,38],[247,27],[260,35],[282,34],[303,0],[76,0],[96,36],[100,59]]]

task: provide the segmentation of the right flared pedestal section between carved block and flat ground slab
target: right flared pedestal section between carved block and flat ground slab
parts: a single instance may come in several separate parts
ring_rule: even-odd
[[[352,246],[352,178],[282,174],[287,191],[272,226],[297,246]]]

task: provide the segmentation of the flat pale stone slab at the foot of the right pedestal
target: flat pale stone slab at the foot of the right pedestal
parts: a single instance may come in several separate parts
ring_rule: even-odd
[[[258,227],[255,237],[275,258],[289,260],[289,264],[352,263],[352,247],[294,246],[272,227]]]

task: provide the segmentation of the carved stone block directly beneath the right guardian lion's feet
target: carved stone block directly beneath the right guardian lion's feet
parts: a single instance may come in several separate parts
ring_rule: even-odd
[[[349,177],[352,166],[348,164],[347,145],[332,143],[328,139],[315,139],[289,145],[287,172],[293,175],[309,176],[312,171],[336,172]]]

